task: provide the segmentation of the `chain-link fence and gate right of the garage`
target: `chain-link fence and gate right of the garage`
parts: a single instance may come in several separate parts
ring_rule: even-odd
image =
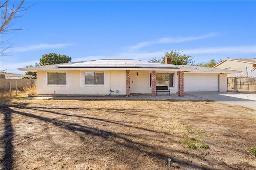
[[[228,92],[256,92],[256,77],[228,77]]]

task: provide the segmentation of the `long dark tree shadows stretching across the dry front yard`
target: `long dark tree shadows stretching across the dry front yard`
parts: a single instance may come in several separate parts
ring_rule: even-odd
[[[16,110],[14,110],[12,108],[16,108]],[[27,111],[24,111],[25,109]],[[129,148],[131,150],[139,152],[140,154],[144,154],[144,155],[154,157],[154,158],[160,160],[161,162],[163,162],[163,164],[166,164],[166,160],[170,156],[172,157],[171,154],[167,155],[167,154],[162,153],[160,149],[156,150],[156,148],[154,148],[154,146],[152,146],[150,144],[144,144],[142,142],[139,142],[140,140],[134,141],[134,140],[131,140],[129,138],[130,136],[133,136],[133,137],[136,137],[138,139],[151,140],[153,136],[132,135],[132,134],[126,134],[124,132],[123,133],[116,133],[116,132],[111,132],[111,131],[108,131],[108,130],[89,127],[89,126],[86,126],[86,125],[80,125],[80,124],[75,123],[75,122],[60,121],[60,120],[55,119],[55,118],[50,119],[50,118],[47,118],[47,117],[42,117],[40,115],[34,115],[34,114],[30,113],[30,111],[32,111],[32,110],[34,110],[34,111],[44,111],[46,113],[51,113],[51,114],[55,114],[55,115],[62,115],[62,116],[68,116],[68,117],[78,117],[80,119],[90,119],[92,121],[100,121],[102,123],[126,126],[126,127],[131,127],[131,128],[143,130],[145,132],[155,132],[155,133],[157,133],[157,131],[155,131],[155,130],[151,130],[151,129],[147,129],[147,128],[140,128],[140,127],[136,127],[136,126],[133,126],[133,125],[126,125],[125,124],[126,122],[116,122],[116,121],[111,121],[111,120],[107,120],[107,119],[99,119],[99,118],[84,117],[84,116],[79,116],[79,115],[70,115],[70,114],[66,114],[66,113],[61,113],[62,109],[65,109],[65,110],[70,109],[72,111],[74,109],[79,109],[79,108],[54,108],[54,109],[59,109],[60,112],[49,111],[49,108],[46,108],[46,107],[27,107],[26,103],[24,105],[22,105],[22,107],[18,104],[16,104],[16,105],[8,105],[8,104],[1,105],[1,112],[4,114],[4,122],[5,122],[5,132],[4,132],[4,135],[2,137],[2,141],[1,141],[1,143],[3,143],[3,148],[4,148],[4,155],[1,159],[1,164],[2,164],[3,169],[8,170],[8,169],[12,169],[14,167],[14,160],[12,158],[13,150],[14,150],[14,146],[12,144],[12,135],[14,134],[14,132],[13,132],[13,126],[12,126],[12,123],[11,123],[12,115],[14,115],[14,114],[15,115],[22,115],[24,117],[30,117],[32,119],[37,119],[37,120],[43,121],[45,123],[51,123],[52,125],[54,125],[58,128],[63,128],[63,129],[69,130],[72,133],[82,132],[84,135],[97,136],[97,137],[100,137],[104,140],[109,138],[109,140],[112,140],[112,142],[114,142],[118,146],[123,146],[125,148]],[[85,110],[88,110],[88,109],[85,109]],[[102,110],[102,109],[94,109],[94,110]],[[130,110],[126,110],[126,109],[106,109],[106,110],[111,111],[113,113],[125,113],[126,111],[130,111]],[[139,111],[136,111],[136,109],[134,109],[134,112],[139,112]],[[118,139],[118,140],[113,140],[113,139]],[[124,142],[120,142],[120,140],[123,140]],[[148,150],[154,150],[154,153],[152,153]],[[168,153],[175,152],[175,150],[172,150],[172,149],[169,149],[169,148],[164,148],[164,150]],[[190,155],[188,154],[188,156],[200,159],[200,156],[197,156],[196,154],[190,154]],[[202,168],[198,164],[194,164],[194,163],[191,164],[191,163],[188,163],[188,162],[186,162],[186,161],[184,161],[180,158],[175,158],[175,159],[172,159],[172,160],[174,162],[179,163],[179,164],[186,164],[186,165],[188,165],[190,167],[193,167],[193,168],[199,168],[199,169]],[[213,168],[209,168],[209,167],[207,169],[208,170],[213,170]]]

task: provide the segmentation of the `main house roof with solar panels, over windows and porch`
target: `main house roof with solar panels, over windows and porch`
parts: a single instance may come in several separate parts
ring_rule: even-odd
[[[22,71],[39,71],[39,70],[176,70],[180,68],[172,64],[151,63],[148,61],[132,60],[132,59],[102,59],[85,62],[63,63],[54,65],[43,65],[36,67],[19,68]],[[193,68],[182,68],[182,71],[195,71]]]

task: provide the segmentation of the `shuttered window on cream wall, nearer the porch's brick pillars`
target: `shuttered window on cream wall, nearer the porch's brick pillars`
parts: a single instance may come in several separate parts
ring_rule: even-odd
[[[104,72],[85,72],[85,85],[104,85]]]

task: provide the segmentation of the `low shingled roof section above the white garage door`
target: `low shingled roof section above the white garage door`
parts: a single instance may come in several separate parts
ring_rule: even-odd
[[[190,71],[188,73],[240,73],[241,71],[236,70],[228,70],[228,69],[217,69],[212,67],[200,67],[194,65],[176,65],[180,69],[182,68],[193,68],[197,69],[197,71]]]

